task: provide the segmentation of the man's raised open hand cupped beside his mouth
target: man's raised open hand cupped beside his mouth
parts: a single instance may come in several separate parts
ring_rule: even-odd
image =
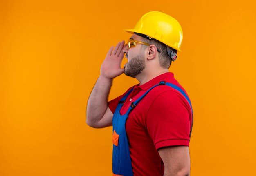
[[[107,56],[101,65],[101,76],[113,79],[124,73],[124,68],[121,68],[121,62],[124,58],[123,50],[126,45],[124,45],[124,41],[122,41],[119,42],[115,48],[114,46],[110,47]]]

